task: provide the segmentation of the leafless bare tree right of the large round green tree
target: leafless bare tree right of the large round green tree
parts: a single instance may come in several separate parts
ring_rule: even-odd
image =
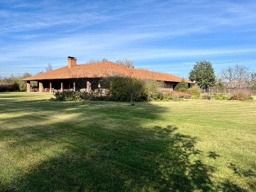
[[[223,69],[219,74],[222,81],[227,87],[242,88],[247,86],[247,81],[250,78],[251,72],[248,67],[242,65],[235,65]]]

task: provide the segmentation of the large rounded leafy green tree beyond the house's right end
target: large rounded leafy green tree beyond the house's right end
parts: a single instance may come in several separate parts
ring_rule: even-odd
[[[210,88],[216,82],[214,68],[209,61],[197,61],[193,70],[189,72],[188,76],[190,81],[196,81],[201,88]]]

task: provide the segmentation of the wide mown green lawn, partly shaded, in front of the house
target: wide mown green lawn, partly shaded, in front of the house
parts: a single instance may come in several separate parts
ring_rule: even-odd
[[[252,101],[0,93],[0,191],[256,191]]]

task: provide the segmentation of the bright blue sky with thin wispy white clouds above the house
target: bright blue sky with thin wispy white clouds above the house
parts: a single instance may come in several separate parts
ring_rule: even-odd
[[[216,75],[237,63],[256,71],[253,1],[0,1],[0,75],[67,66],[67,57],[186,77],[196,61]],[[229,62],[232,61],[232,62]]]

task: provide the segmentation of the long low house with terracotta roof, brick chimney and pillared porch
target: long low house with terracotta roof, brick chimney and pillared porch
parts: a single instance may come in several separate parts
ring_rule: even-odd
[[[142,79],[153,79],[164,81],[162,91],[172,91],[176,84],[182,81],[182,78],[174,75],[158,73],[152,71],[144,71],[138,69],[130,69],[118,65],[114,62],[98,62],[90,64],[76,64],[75,57],[68,57],[68,66],[34,75],[25,79],[27,81],[27,92],[53,92],[54,90],[80,90],[91,89],[92,81],[98,81],[100,87],[100,79],[109,76],[131,76]],[[78,87],[77,80],[86,81],[86,86]],[[37,81],[37,88],[31,89],[30,81]],[[190,86],[193,82],[185,80]]]

